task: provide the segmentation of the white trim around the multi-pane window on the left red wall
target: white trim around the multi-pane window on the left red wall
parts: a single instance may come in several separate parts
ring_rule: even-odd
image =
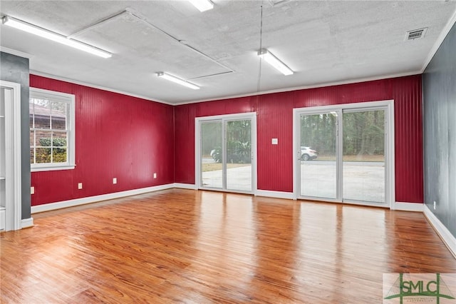
[[[31,163],[31,172],[72,170],[76,167],[75,161],[75,96],[73,94],[44,90],[43,88],[30,88],[30,98],[51,99],[53,101],[69,102],[68,142],[66,163]]]

